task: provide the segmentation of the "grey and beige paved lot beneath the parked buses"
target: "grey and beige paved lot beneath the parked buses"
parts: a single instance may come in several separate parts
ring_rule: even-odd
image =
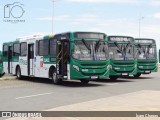
[[[160,72],[143,75],[139,79],[130,77],[117,81],[95,80],[88,85],[82,85],[77,81],[65,81],[62,85],[53,85],[47,79],[17,80],[10,77],[3,80],[2,78],[0,110],[160,110],[159,74]]]

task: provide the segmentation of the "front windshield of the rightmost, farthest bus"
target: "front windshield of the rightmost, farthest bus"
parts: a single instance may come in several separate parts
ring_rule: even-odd
[[[136,45],[137,59],[156,59],[156,46],[152,45]]]

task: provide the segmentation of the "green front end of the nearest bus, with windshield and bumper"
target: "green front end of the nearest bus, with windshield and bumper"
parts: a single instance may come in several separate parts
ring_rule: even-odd
[[[69,32],[57,35],[69,41],[68,79],[88,83],[109,77],[106,35],[96,32]],[[61,51],[59,50],[59,54]],[[59,57],[58,54],[58,58]],[[58,62],[59,63],[59,62]]]

